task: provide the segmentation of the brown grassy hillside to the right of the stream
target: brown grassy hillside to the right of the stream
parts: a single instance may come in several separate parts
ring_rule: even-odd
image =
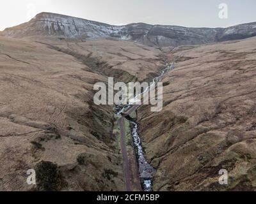
[[[155,191],[256,189],[255,43],[173,52],[182,57],[163,79],[163,110],[138,110],[145,155],[157,169]],[[219,184],[220,170],[228,185]]]

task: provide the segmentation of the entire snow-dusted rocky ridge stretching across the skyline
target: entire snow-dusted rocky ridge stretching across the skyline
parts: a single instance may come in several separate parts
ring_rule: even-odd
[[[199,45],[256,36],[256,22],[227,29],[191,28],[173,25],[109,25],[55,13],[40,13],[28,23],[5,29],[4,36],[58,36],[63,38],[109,38],[130,40],[151,47]]]

